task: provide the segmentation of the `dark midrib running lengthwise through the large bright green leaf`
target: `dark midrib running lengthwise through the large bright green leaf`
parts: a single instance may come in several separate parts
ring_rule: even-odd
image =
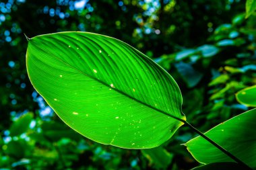
[[[33,38],[31,38],[30,40],[28,40],[28,43],[30,43],[30,42],[32,42],[32,41],[33,41]],[[40,48],[36,43],[34,43],[34,45],[37,46],[40,50],[43,50],[43,49]],[[46,50],[44,50],[44,52],[46,52],[46,53],[49,54],[49,52],[47,52]],[[125,95],[126,97],[129,97],[130,99],[133,99],[134,101],[137,101],[138,103],[141,103],[141,104],[143,104],[143,105],[146,105],[148,108],[151,108],[151,109],[153,109],[153,110],[156,110],[156,111],[158,111],[158,112],[160,112],[160,113],[162,113],[162,114],[164,114],[164,115],[166,115],[166,116],[169,116],[170,118],[174,118],[174,119],[179,120],[180,122],[183,122],[183,123],[185,124],[186,120],[183,120],[183,119],[181,119],[181,118],[177,118],[176,116],[172,116],[171,114],[168,114],[168,113],[166,113],[166,112],[164,112],[164,111],[162,111],[162,110],[160,110],[160,109],[158,109],[158,108],[154,108],[152,105],[149,105],[149,104],[147,104],[147,103],[145,103],[145,102],[143,102],[143,101],[140,101],[139,99],[136,99],[135,97],[131,97],[131,95],[128,95],[127,93],[124,93],[123,91],[120,91],[120,90],[117,89],[117,88],[111,87],[111,86],[108,85],[107,83],[104,83],[104,81],[100,81],[99,79],[96,79],[96,77],[92,77],[91,75],[88,75],[88,74],[86,74],[86,73],[84,73],[84,72],[82,72],[82,71],[79,71],[79,69],[76,69],[75,67],[69,65],[69,64],[68,64],[67,62],[65,62],[64,60],[61,60],[61,58],[59,58],[59,57],[57,57],[57,56],[55,56],[55,55],[52,55],[52,56],[54,56],[57,60],[63,62],[63,64],[67,65],[68,67],[71,67],[71,68],[74,69],[75,71],[77,71],[77,72],[79,72],[79,73],[82,73],[82,75],[85,75],[85,76],[87,76],[87,77],[90,77],[90,79],[93,79],[94,81],[98,81],[98,82],[101,83],[102,85],[105,85],[106,87],[109,87],[110,89],[113,89],[113,90],[117,91],[118,93],[121,93],[122,95]]]

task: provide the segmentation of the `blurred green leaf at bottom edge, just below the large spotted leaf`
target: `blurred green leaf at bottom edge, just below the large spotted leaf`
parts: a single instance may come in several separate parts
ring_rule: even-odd
[[[173,155],[168,153],[162,146],[141,150],[143,155],[150,160],[150,167],[154,165],[156,169],[166,169],[172,161]]]

